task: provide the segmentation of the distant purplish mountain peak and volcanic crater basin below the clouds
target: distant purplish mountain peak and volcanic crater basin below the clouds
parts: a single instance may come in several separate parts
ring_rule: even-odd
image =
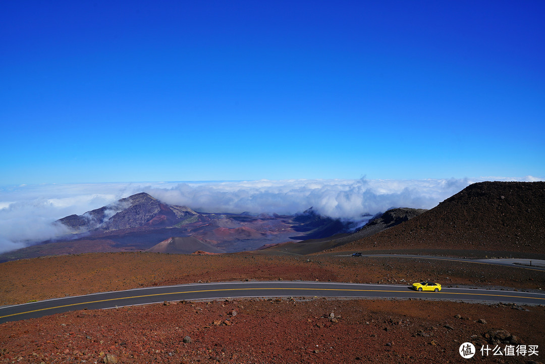
[[[296,215],[204,213],[169,205],[143,192],[82,215],[66,216],[56,223],[69,227],[72,233],[2,253],[0,262],[52,254],[145,251],[150,248],[169,252],[232,253],[286,241],[325,238],[350,228],[340,220],[312,210]],[[189,237],[196,240],[177,239]],[[155,247],[170,238],[174,239],[169,240],[169,244]],[[200,243],[205,246],[197,246]],[[180,248],[182,245],[191,247]]]

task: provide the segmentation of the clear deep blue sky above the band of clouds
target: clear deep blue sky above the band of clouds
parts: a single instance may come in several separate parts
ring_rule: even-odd
[[[543,1],[3,1],[0,185],[545,175]]]

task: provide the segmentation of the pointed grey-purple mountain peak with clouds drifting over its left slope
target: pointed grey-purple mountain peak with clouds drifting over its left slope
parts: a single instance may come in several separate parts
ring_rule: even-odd
[[[172,226],[195,215],[197,213],[190,208],[166,205],[142,192],[100,209],[87,211],[83,215],[66,216],[57,222],[78,232],[85,232],[96,228],[116,230],[143,226]]]

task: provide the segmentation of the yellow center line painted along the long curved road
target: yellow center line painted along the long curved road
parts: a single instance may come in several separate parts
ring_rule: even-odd
[[[125,300],[125,299],[131,299],[131,298],[142,298],[142,297],[153,297],[153,296],[163,296],[163,295],[170,295],[170,294],[185,294],[185,293],[203,293],[203,292],[222,292],[222,291],[237,291],[237,290],[323,290],[323,291],[344,291],[344,292],[395,292],[395,293],[414,293],[408,290],[387,290],[387,289],[343,289],[343,288],[225,288],[225,289],[204,289],[204,290],[191,290],[191,291],[184,291],[184,292],[167,292],[167,293],[154,293],[154,294],[146,294],[146,295],[140,295],[140,296],[129,296],[129,297],[118,297],[118,298],[110,298],[105,300],[96,300],[96,301],[87,301],[87,302],[81,302],[77,304],[69,304],[69,305],[62,305],[62,306],[54,306],[54,307],[46,307],[46,308],[39,308],[38,310],[32,310],[32,311],[25,311],[25,312],[19,312],[19,313],[12,313],[5,316],[0,316],[0,318],[4,317],[10,317],[10,316],[16,316],[26,313],[32,313],[32,312],[39,312],[39,311],[45,311],[45,310],[54,310],[56,308],[63,308],[63,307],[70,307],[70,306],[79,306],[79,305],[89,305],[89,304],[95,304],[97,302],[107,302],[107,301],[116,301],[116,300]],[[441,292],[443,294],[467,294],[467,295],[477,295],[477,296],[492,296],[492,297],[508,297],[508,298],[531,298],[531,299],[537,299],[537,300],[545,300],[545,298],[540,297],[525,297],[525,296],[511,296],[511,295],[501,295],[501,294],[488,294],[488,293],[460,293],[460,292]],[[429,297],[429,296],[426,296]]]

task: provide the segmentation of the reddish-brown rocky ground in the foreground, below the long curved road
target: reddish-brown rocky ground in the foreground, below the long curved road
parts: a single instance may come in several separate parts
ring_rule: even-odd
[[[467,361],[458,354],[464,342],[477,349],[538,345],[538,356],[483,357],[479,351]],[[545,308],[539,306],[422,300],[165,302],[0,325],[0,363],[527,363],[542,355]]]

